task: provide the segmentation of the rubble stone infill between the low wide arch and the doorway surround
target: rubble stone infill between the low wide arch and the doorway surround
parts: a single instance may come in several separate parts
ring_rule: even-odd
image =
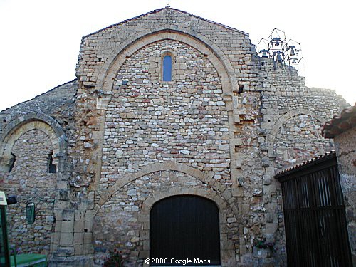
[[[125,257],[125,266],[142,266],[143,260],[138,258],[139,252],[147,249],[144,247],[149,241],[149,229],[140,219],[142,205],[145,205],[145,200],[150,196],[168,190],[184,192],[184,189],[189,187],[203,189],[206,194],[218,195],[221,200],[223,199],[221,194],[198,179],[172,171],[147,174],[117,191],[95,216],[93,225],[95,265],[101,266],[106,251],[117,248]],[[225,216],[228,217],[229,223],[220,221],[221,235],[227,234],[224,242],[232,242],[234,248],[238,250],[239,233],[236,217],[231,210]]]

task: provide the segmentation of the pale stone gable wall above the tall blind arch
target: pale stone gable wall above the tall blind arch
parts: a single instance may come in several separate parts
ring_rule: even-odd
[[[103,30],[84,36],[80,46],[80,55],[77,64],[77,77],[84,86],[94,87],[98,80],[100,67],[105,66],[112,55],[122,49],[122,44],[127,41],[134,42],[142,33],[159,28],[183,28],[197,35],[209,38],[219,46],[236,70],[244,73],[241,81],[248,84],[248,61],[251,59],[251,44],[248,34],[234,28],[212,23],[192,14],[177,9],[158,9],[137,18],[117,23]],[[244,58],[244,61],[243,61]]]

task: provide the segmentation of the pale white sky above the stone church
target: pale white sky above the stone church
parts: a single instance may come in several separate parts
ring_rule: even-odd
[[[355,4],[352,0],[171,0],[187,11],[249,33],[273,28],[301,44],[308,87],[356,101]],[[82,36],[167,6],[168,0],[0,0],[0,110],[75,79]]]

